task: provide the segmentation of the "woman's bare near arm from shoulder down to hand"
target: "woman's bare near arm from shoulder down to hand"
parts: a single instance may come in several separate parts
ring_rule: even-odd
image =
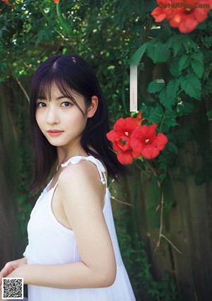
[[[100,179],[93,164],[69,165],[61,173],[57,195],[76,238],[81,261],[63,265],[23,265],[9,277],[52,288],[100,288],[112,285],[116,262],[102,213]]]

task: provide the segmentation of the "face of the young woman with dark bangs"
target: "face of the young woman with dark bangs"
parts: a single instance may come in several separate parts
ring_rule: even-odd
[[[52,146],[77,148],[86,127],[86,105],[82,95],[72,93],[81,110],[72,100],[62,95],[56,84],[52,84],[51,100],[37,98],[35,117],[37,124]]]

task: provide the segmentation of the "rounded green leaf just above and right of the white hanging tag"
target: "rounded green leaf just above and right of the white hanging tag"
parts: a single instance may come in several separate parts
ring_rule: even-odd
[[[161,42],[148,43],[147,55],[154,64],[163,63],[169,61],[170,50],[167,49],[167,45],[163,45]]]

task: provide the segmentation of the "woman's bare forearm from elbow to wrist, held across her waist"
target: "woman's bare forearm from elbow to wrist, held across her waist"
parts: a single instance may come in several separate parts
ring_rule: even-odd
[[[95,271],[82,261],[56,266],[33,265],[20,266],[8,278],[21,277],[24,284],[49,288],[104,288],[112,285],[114,279],[104,271]]]

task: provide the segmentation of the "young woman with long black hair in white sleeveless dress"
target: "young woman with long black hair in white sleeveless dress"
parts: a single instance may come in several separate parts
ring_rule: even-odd
[[[54,55],[37,69],[30,96],[35,142],[33,187],[40,195],[28,223],[24,258],[2,277],[23,277],[29,301],[132,301],[119,252],[107,173],[124,174],[110,150],[107,107],[81,57]]]

